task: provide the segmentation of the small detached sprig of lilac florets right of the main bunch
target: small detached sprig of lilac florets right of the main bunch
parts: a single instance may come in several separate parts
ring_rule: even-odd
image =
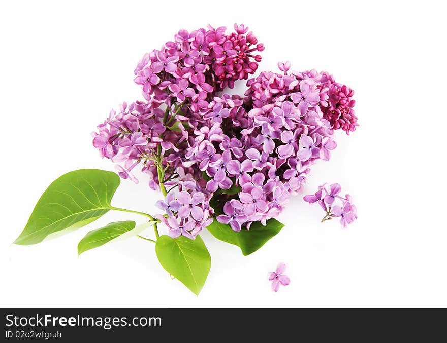
[[[340,224],[346,227],[357,219],[357,208],[353,204],[353,199],[349,194],[346,194],[344,198],[340,196],[341,187],[338,183],[329,185],[325,183],[318,186],[318,190],[315,194],[308,194],[304,197],[304,201],[309,204],[318,203],[326,212],[322,222],[330,220],[334,217],[340,218]],[[340,205],[334,205],[335,201],[341,202]]]

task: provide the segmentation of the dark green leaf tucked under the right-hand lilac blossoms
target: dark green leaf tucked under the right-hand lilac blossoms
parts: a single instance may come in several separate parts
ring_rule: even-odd
[[[256,221],[251,224],[250,230],[242,229],[239,232],[233,231],[230,225],[222,224],[214,218],[208,225],[208,231],[217,239],[237,245],[242,250],[242,254],[247,256],[261,248],[269,239],[275,236],[284,224],[272,218],[267,220],[264,226]]]

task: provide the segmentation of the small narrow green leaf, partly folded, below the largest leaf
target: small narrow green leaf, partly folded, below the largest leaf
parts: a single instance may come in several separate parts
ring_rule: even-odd
[[[79,242],[78,255],[84,251],[98,248],[114,238],[131,231],[133,228],[135,228],[135,221],[115,221],[104,227],[97,228],[97,230],[92,230]]]

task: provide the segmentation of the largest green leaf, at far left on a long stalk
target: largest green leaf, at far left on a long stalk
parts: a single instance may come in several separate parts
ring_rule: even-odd
[[[80,169],[62,175],[45,190],[15,244],[42,242],[66,228],[79,228],[107,213],[120,182],[115,173]]]

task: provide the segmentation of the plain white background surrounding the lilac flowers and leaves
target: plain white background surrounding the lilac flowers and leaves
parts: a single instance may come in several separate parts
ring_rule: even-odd
[[[1,306],[447,306],[445,225],[445,10],[440,2],[2,2],[0,97]],[[114,170],[90,132],[112,107],[141,99],[133,70],[141,56],[192,30],[244,23],[265,44],[259,70],[333,73],[352,87],[360,127],[337,132],[329,162],[305,186],[339,182],[359,219],[343,230],[294,198],[286,226],[248,257],[202,237],[212,256],[196,297],[138,238],[77,257],[88,227],[34,246],[16,246],[45,188],[80,168]],[[238,85],[240,92],[244,83]],[[155,213],[160,195],[123,180],[115,206]],[[146,233],[148,236],[151,231]],[[291,284],[270,290],[284,261]]]

